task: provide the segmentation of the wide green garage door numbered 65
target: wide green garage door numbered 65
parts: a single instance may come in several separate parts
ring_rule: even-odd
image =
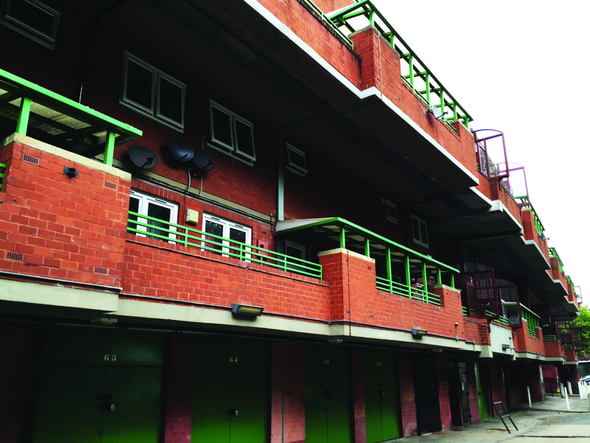
[[[48,331],[35,443],[157,443],[163,348],[160,335]]]

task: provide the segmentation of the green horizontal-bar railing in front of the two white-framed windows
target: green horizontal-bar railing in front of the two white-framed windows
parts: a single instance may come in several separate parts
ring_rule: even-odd
[[[145,220],[145,221],[143,221]],[[145,229],[141,229],[143,227]],[[127,231],[322,279],[322,265],[129,211]]]

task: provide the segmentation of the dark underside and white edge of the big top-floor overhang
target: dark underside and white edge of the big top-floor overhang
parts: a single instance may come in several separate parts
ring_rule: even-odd
[[[127,0],[112,9],[111,0],[64,1],[270,126],[290,127],[290,139],[400,203],[430,198],[424,216],[464,211],[455,196],[478,184],[379,90],[358,89],[257,0]]]

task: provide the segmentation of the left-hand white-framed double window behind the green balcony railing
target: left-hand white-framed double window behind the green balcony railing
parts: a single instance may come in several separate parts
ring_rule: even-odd
[[[138,191],[132,190],[131,196],[129,198],[129,211],[142,214],[148,217],[153,217],[158,220],[162,220],[162,222],[160,222],[156,220],[142,219],[141,217],[129,215],[130,220],[135,220],[136,222],[146,223],[150,225],[142,226],[140,224],[128,221],[128,228],[138,229],[140,231],[146,232],[146,234],[137,232],[135,232],[135,234],[142,237],[147,236],[150,239],[157,239],[159,237],[147,235],[149,233],[175,238],[175,234],[169,233],[168,230],[175,231],[176,228],[165,223],[176,223],[178,220],[178,205],[172,203],[172,201],[162,200],[161,198],[149,196],[148,194],[143,194]]]

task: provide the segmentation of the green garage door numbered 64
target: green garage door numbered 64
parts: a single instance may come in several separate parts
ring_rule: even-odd
[[[268,344],[242,338],[199,342],[192,443],[267,441]]]

